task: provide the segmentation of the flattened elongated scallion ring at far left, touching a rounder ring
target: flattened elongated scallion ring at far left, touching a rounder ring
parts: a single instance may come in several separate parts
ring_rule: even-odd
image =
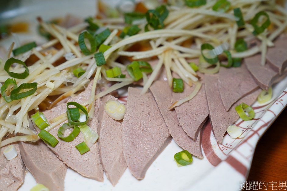
[[[33,82],[33,83],[23,83],[21,85],[19,85],[18,88],[13,89],[10,93],[10,97],[12,100],[17,100],[17,99],[22,99],[28,96],[33,95],[36,90],[37,90],[37,83]],[[22,89],[31,89],[28,90],[27,92],[21,92],[19,93]]]

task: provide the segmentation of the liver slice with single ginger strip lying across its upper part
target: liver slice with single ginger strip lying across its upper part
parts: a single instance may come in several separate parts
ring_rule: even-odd
[[[176,74],[172,74],[175,78],[179,78]],[[204,75],[198,73],[201,82],[204,81]],[[189,86],[184,83],[184,90],[182,93],[172,92],[173,101],[177,101],[190,95],[195,89],[195,85]],[[193,99],[175,107],[176,115],[182,129],[190,138],[197,140],[197,135],[201,127],[208,117],[208,107],[204,91],[204,84],[202,84],[199,92]]]

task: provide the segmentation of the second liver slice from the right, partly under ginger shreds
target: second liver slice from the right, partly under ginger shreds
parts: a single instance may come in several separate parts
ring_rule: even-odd
[[[262,66],[260,64],[260,60],[260,54],[244,59],[246,67],[253,76],[254,80],[257,82],[260,88],[268,91],[268,88],[277,75],[277,72],[272,70],[269,67],[269,64]]]

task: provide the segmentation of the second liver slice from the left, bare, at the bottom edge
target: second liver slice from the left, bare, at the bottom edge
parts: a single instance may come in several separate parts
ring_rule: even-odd
[[[35,143],[19,143],[25,166],[38,183],[53,191],[64,190],[67,166],[39,140]]]

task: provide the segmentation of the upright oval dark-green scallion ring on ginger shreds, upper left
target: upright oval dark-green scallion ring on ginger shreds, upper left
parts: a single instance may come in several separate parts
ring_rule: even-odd
[[[91,50],[88,50],[86,43],[85,43],[85,38],[89,40],[90,45],[91,45]],[[94,37],[87,31],[84,31],[83,33],[79,35],[78,42],[79,42],[79,46],[83,54],[89,55],[96,51],[97,43],[95,42]]]

